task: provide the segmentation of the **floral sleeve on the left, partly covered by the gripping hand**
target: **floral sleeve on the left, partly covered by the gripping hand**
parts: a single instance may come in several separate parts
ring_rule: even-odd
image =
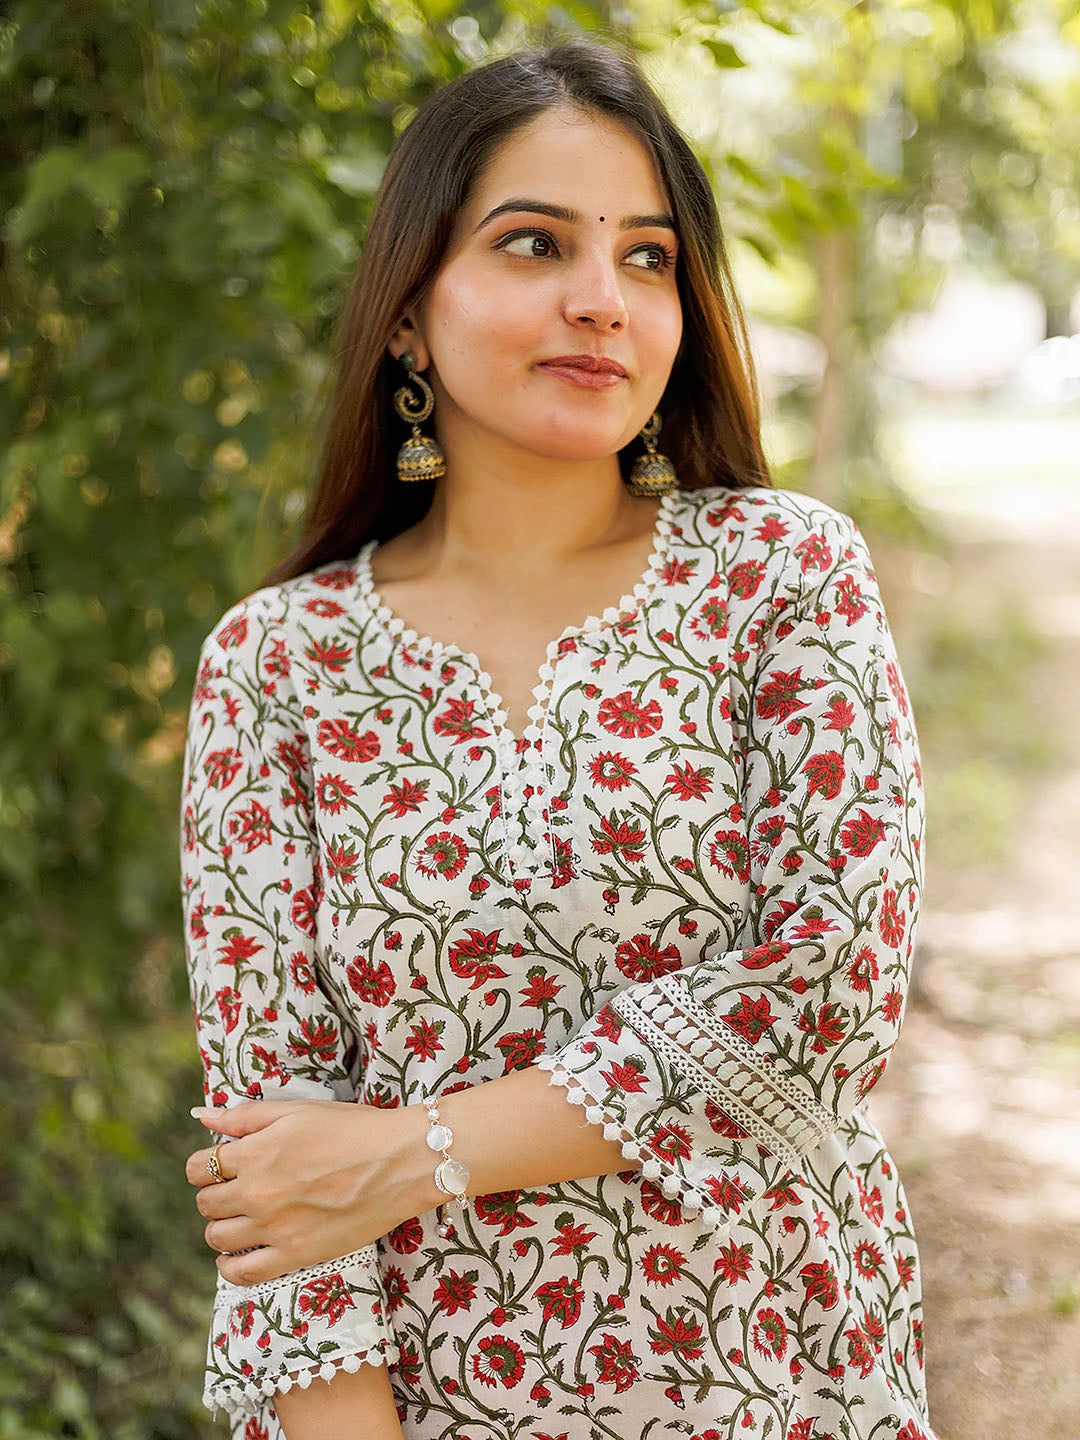
[[[222,618],[192,700],[184,940],[212,1104],[357,1094],[356,1035],[320,982],[321,867],[284,603],[261,590]],[[373,1244],[262,1284],[219,1274],[204,1404],[265,1420],[275,1391],[383,1364],[390,1339]]]

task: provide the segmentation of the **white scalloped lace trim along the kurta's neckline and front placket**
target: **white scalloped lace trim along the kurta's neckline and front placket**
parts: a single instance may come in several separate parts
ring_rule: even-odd
[[[369,540],[357,554],[359,598],[390,639],[432,661],[452,660],[468,672],[464,677],[462,691],[477,704],[492,729],[500,776],[495,863],[507,883],[556,877],[559,860],[550,822],[552,766],[544,744],[556,670],[566,655],[576,652],[576,645],[569,647],[569,641],[631,622],[651,598],[667,562],[678,494],[671,491],[661,497],[652,530],[652,549],[636,585],[622,595],[616,605],[609,605],[600,615],[586,616],[580,625],[567,625],[547,644],[543,664],[537,670],[537,684],[533,685],[534,701],[527,711],[528,724],[520,736],[507,726],[503,696],[492,687],[490,672],[484,670],[474,651],[433,639],[431,635],[420,635],[386,605],[372,575],[372,556],[379,541]]]

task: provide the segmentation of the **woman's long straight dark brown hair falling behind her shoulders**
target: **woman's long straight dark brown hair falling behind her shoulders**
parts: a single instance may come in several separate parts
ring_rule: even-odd
[[[456,76],[397,137],[338,330],[318,484],[298,544],[264,583],[351,559],[366,540],[399,534],[428,510],[432,484],[403,485],[396,475],[409,428],[392,402],[405,372],[386,344],[438,274],[484,164],[514,131],[567,104],[635,134],[671,200],[683,340],[660,413],[661,448],[680,487],[772,484],[746,320],[708,179],[631,50],[613,40],[560,40]],[[619,451],[624,478],[636,449]]]

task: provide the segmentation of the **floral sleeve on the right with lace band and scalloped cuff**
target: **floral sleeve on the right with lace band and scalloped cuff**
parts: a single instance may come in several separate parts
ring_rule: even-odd
[[[726,677],[739,948],[629,985],[537,1061],[707,1228],[789,1184],[851,1116],[906,1002],[923,880],[914,717],[865,541],[824,510]]]

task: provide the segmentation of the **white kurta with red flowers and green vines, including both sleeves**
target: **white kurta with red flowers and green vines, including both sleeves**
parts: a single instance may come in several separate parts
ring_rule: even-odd
[[[635,1165],[219,1279],[207,1405],[278,1440],[275,1390],[387,1361],[408,1440],[933,1440],[912,1220],[864,1106],[923,793],[860,531],[793,491],[667,497],[520,737],[474,655],[382,605],[373,549],[203,647],[207,1096],[397,1106],[536,1064]]]

